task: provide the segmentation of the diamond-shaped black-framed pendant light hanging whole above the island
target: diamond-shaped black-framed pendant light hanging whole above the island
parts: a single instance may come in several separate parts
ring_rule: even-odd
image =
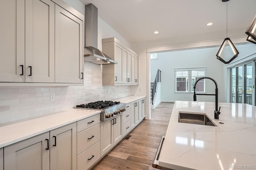
[[[218,53],[216,54],[217,59],[220,60],[224,64],[229,64],[239,54],[238,50],[232,43],[231,39],[228,38],[228,1],[229,0],[222,0],[222,2],[227,2],[227,38],[224,39],[222,45],[220,46]],[[230,47],[230,48],[229,49],[226,48],[223,51],[224,47]]]

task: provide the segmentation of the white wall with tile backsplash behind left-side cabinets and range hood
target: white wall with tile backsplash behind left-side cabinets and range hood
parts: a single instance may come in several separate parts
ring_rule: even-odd
[[[84,4],[79,0],[64,1],[84,14]],[[126,39],[98,18],[99,49],[101,39],[109,37],[117,37],[130,47]],[[134,86],[102,86],[102,68],[98,64],[84,62],[84,73],[84,86],[0,87],[0,123],[71,109],[76,104],[115,100],[134,95],[136,91]],[[50,102],[50,93],[55,93],[54,102]]]

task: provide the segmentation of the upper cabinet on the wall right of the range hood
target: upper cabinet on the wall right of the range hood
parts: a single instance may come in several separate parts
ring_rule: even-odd
[[[102,85],[138,84],[138,57],[134,51],[116,38],[107,38],[102,39],[102,52],[118,62],[102,66]]]

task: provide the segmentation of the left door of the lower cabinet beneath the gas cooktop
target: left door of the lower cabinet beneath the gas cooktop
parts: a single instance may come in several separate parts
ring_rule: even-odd
[[[100,156],[103,156],[114,145],[113,124],[114,119],[100,123]]]

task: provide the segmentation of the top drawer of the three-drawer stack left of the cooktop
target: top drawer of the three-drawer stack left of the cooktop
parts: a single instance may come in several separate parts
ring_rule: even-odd
[[[77,121],[77,133],[100,123],[100,113]]]

